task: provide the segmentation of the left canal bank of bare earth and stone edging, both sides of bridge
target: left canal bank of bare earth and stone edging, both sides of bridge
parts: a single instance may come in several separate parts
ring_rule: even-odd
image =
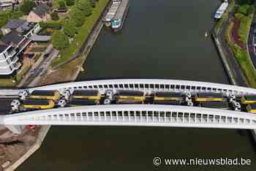
[[[102,9],[101,13],[105,12],[106,7],[108,7],[109,0],[104,0],[104,2],[105,2],[105,6]],[[48,81],[53,81],[52,83],[57,83],[57,82],[64,82],[64,81],[72,81],[76,79],[76,77],[80,72],[80,68],[83,65],[83,62],[86,60],[86,57],[88,56],[91,50],[91,47],[93,47],[94,42],[97,40],[97,37],[99,36],[99,33],[102,29],[103,23],[101,21],[101,18],[102,18],[102,15],[100,15],[99,18],[97,19],[97,23],[94,23],[94,25],[91,26],[93,29],[89,33],[86,39],[86,42],[82,46],[83,50],[80,52],[81,53],[80,57],[76,58],[75,60],[72,60],[68,64],[65,64],[59,67],[53,72],[48,72],[48,74],[45,75],[45,77],[42,77],[42,80],[39,80],[39,82],[35,86],[40,86],[41,84],[48,83]],[[65,77],[56,76],[55,75],[56,73],[61,73],[61,74],[63,73],[65,74]],[[42,142],[45,139],[46,135],[48,134],[49,129],[50,129],[50,126],[40,126],[40,129],[37,135],[37,140],[36,142],[34,142],[34,145],[32,145],[31,148],[29,148],[29,150],[25,154],[23,154],[23,156],[20,157],[20,159],[15,161],[12,165],[10,165],[10,167],[7,167],[4,170],[7,170],[7,171],[15,170],[20,164],[26,161],[26,159],[28,159],[29,156],[31,156],[34,152],[36,152],[42,145]]]

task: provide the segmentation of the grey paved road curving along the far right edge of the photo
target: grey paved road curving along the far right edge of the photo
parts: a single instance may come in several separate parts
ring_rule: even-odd
[[[249,50],[249,56],[251,58],[253,66],[256,68],[256,53],[255,53],[255,47],[253,46],[253,37],[254,37],[254,30],[256,29],[256,15],[254,15],[252,19],[252,26],[249,31],[249,37],[248,37],[248,50]]]

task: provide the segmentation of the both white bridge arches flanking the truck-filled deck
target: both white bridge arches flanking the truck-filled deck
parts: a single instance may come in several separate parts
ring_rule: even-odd
[[[107,90],[137,90],[145,94],[170,91],[195,94],[212,92],[222,94],[256,94],[254,88],[230,86],[219,83],[205,83],[187,80],[91,80],[75,83],[61,83],[34,90],[97,89],[105,94]],[[1,89],[0,96],[18,96],[24,89]],[[204,128],[256,129],[256,115],[204,107],[188,107],[159,104],[109,104],[83,107],[64,107],[51,110],[37,110],[12,115],[1,115],[0,123],[12,132],[20,133],[20,125],[105,125],[105,126],[184,126]]]

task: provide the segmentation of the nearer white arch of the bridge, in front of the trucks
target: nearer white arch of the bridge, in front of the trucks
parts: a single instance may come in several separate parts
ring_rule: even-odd
[[[159,104],[112,104],[63,107],[1,115],[0,123],[19,133],[15,125],[177,126],[256,129],[256,115],[206,107]],[[13,125],[13,126],[12,126]]]

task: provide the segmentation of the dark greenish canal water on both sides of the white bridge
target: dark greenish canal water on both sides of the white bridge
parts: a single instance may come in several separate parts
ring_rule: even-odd
[[[124,28],[103,28],[78,80],[167,78],[228,83],[206,31],[217,0],[131,0]],[[251,166],[164,166],[162,158],[246,158]],[[18,170],[255,170],[248,132],[235,129],[53,126]]]

